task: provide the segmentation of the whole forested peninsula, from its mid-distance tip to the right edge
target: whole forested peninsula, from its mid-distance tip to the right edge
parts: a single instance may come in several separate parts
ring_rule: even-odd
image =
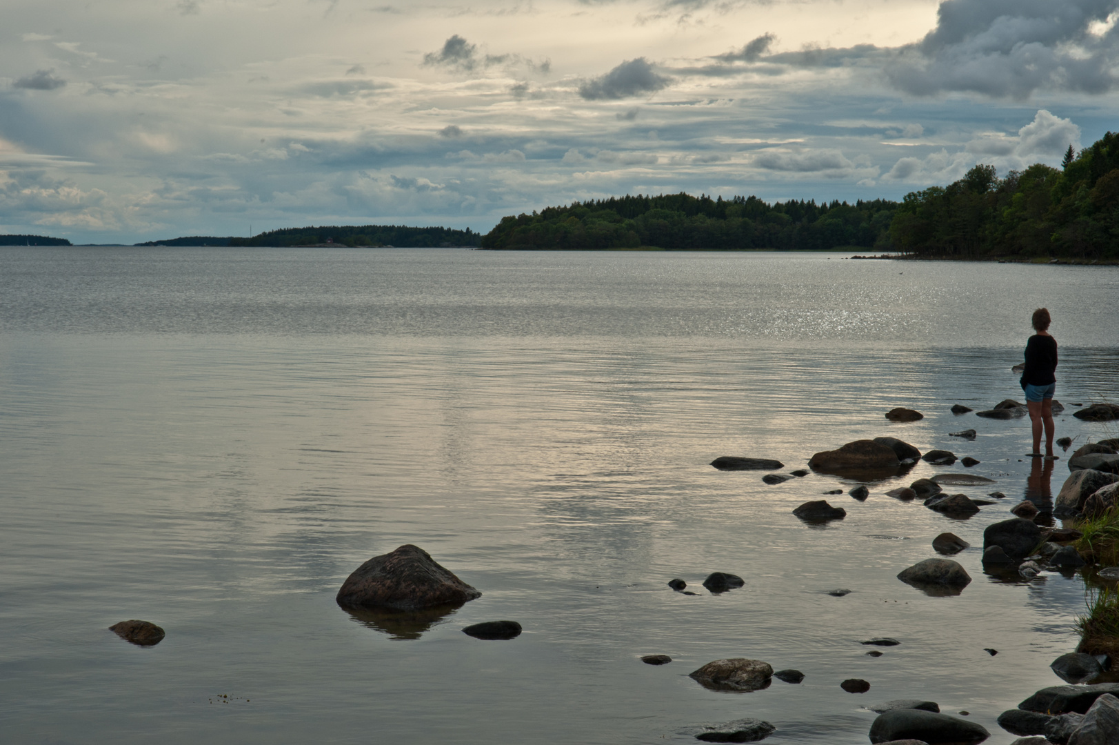
[[[948,186],[886,199],[816,204],[688,194],[574,202],[504,217],[483,249],[900,251],[925,259],[1119,259],[1119,136],[1062,168],[998,178],[979,165]]]

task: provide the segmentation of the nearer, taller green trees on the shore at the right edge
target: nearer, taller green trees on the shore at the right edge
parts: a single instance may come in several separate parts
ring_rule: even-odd
[[[896,249],[927,258],[1119,258],[1119,134],[1062,168],[1036,164],[997,178],[976,166],[949,186],[905,195],[890,226]]]

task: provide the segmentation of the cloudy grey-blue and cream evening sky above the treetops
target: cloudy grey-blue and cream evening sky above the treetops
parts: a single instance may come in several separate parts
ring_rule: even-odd
[[[4,0],[0,233],[901,199],[1119,129],[1119,0]]]

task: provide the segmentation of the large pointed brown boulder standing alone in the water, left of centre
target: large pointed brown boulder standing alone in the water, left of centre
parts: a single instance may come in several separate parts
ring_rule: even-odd
[[[375,556],[354,570],[335,598],[344,608],[402,611],[462,605],[481,593],[441,567],[423,549],[407,543]]]

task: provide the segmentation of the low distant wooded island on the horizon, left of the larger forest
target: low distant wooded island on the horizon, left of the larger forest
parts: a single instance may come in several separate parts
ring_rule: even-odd
[[[284,227],[252,238],[232,238],[229,245],[298,246],[337,243],[348,246],[384,246],[436,249],[458,245],[481,245],[481,234],[469,227],[407,227],[405,225],[322,225],[319,227]]]

